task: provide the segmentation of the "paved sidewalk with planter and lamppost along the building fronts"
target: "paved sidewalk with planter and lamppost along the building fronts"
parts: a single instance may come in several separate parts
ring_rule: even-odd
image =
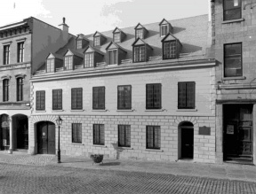
[[[214,179],[256,182],[256,167],[225,163],[202,164],[187,161],[156,162],[132,159],[103,159],[103,164],[92,165],[92,160],[85,157],[61,156],[57,163],[55,155],[28,155],[27,153],[8,154],[0,152],[0,163],[35,165],[46,167],[78,167],[84,169],[142,172],[153,174],[188,175]]]

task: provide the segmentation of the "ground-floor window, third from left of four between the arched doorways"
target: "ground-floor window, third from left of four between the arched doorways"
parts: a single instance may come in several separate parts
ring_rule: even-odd
[[[118,146],[131,147],[131,126],[118,125]]]

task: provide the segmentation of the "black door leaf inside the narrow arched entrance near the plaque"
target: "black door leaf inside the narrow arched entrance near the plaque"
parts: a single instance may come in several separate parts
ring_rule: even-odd
[[[181,158],[193,159],[194,129],[181,128]]]

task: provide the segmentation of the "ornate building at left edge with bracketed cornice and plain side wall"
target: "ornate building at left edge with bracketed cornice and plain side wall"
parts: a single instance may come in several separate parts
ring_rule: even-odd
[[[0,27],[0,149],[28,150],[31,74],[44,63],[49,50],[68,43],[64,30],[35,18]]]

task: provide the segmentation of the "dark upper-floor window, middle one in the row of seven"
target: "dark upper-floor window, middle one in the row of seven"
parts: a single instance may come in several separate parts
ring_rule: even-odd
[[[92,109],[105,109],[105,87],[92,88]]]

